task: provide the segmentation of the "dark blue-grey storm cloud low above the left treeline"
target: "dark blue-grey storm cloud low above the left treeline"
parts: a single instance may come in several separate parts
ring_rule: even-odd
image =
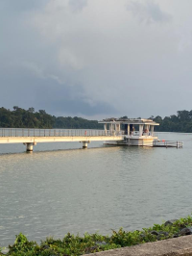
[[[28,109],[31,106],[36,110],[46,110],[52,115],[91,116],[116,113],[114,108],[105,102],[89,103],[80,85],[70,88],[64,84],[60,85],[52,78],[37,78],[26,68],[17,67],[9,69],[9,72],[6,68],[1,70],[4,72],[0,76],[0,85],[6,84],[6,87],[0,93],[0,107],[19,106]]]

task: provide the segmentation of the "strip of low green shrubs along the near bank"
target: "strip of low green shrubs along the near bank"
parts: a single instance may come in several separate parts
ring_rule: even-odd
[[[111,236],[84,234],[83,237],[68,233],[62,240],[47,238],[40,244],[29,242],[23,234],[16,236],[14,244],[9,246],[7,256],[78,256],[108,249],[136,245],[139,243],[155,242],[180,236],[180,230],[192,226],[192,218],[180,218],[172,224],[155,224],[150,228],[143,228],[127,232],[120,228],[112,231]],[[0,249],[0,255],[1,253]]]

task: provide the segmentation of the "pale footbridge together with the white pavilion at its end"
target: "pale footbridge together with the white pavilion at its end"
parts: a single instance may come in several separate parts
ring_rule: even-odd
[[[23,143],[27,151],[33,151],[34,145],[40,142],[80,141],[86,148],[90,141],[153,146],[157,140],[154,126],[158,123],[150,119],[108,118],[100,123],[104,123],[104,130],[0,128],[0,144]]]

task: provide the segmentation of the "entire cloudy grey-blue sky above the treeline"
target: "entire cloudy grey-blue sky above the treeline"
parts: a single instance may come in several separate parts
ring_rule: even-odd
[[[192,109],[191,0],[0,0],[0,107],[147,118]]]

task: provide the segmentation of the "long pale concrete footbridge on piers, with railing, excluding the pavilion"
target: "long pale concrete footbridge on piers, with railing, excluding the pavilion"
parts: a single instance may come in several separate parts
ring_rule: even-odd
[[[123,141],[124,132],[85,129],[22,129],[0,128],[0,143],[23,143],[26,151],[33,151],[39,142],[79,141],[83,148],[90,141]]]

